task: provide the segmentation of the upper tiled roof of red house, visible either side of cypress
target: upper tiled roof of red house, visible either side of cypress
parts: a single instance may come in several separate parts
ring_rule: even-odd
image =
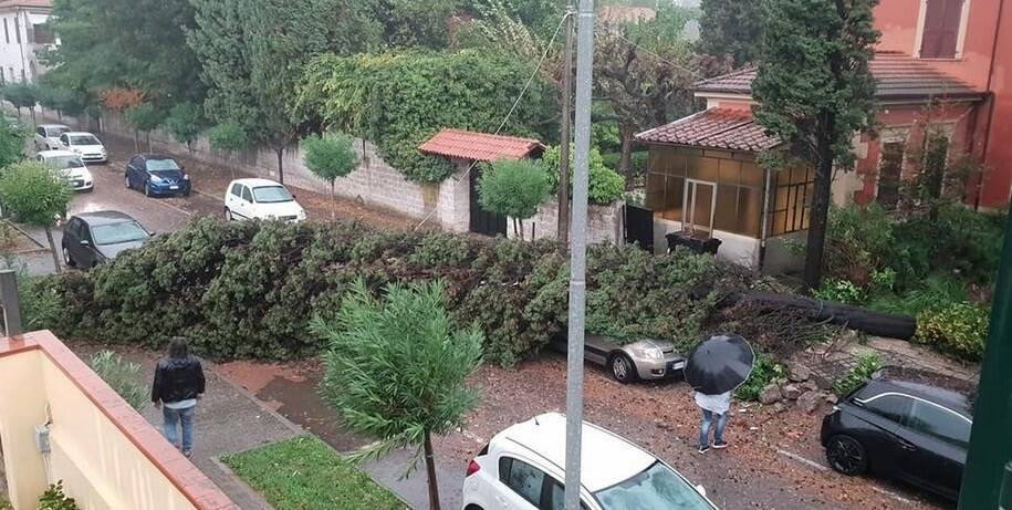
[[[870,63],[879,100],[926,100],[930,97],[979,98],[983,92],[935,69],[930,63],[903,53],[880,52]],[[752,93],[755,67],[744,69],[696,84],[697,92]]]

